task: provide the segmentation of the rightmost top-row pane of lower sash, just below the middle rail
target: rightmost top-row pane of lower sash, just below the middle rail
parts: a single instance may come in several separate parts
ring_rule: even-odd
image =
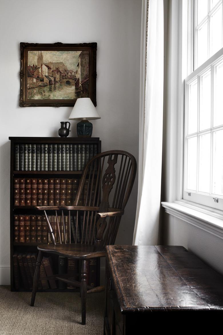
[[[214,78],[213,126],[223,124],[223,63],[216,66]]]

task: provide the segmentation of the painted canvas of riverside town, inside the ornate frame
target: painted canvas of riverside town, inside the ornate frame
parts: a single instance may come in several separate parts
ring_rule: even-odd
[[[89,96],[89,51],[28,51],[28,99]]]

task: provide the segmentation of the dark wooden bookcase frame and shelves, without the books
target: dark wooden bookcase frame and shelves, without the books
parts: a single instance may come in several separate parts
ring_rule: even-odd
[[[11,270],[11,291],[16,291],[14,285],[13,273],[13,254],[15,252],[37,252],[37,245],[44,244],[44,242],[13,242],[13,215],[14,214],[43,214],[37,211],[34,206],[14,206],[13,201],[13,178],[75,178],[80,179],[83,171],[15,171],[14,170],[14,151],[15,144],[96,144],[97,152],[101,152],[101,141],[99,137],[9,137],[11,141],[11,158],[10,158],[10,270]],[[53,268],[57,269],[58,256],[52,257]],[[100,281],[100,262],[97,263],[97,285]],[[30,291],[23,287],[19,291]],[[46,289],[40,291],[77,291],[77,289]]]

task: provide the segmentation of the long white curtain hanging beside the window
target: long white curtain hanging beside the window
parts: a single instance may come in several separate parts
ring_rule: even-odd
[[[147,15],[146,15],[147,14]],[[139,184],[133,245],[158,242],[163,122],[163,0],[142,1]]]

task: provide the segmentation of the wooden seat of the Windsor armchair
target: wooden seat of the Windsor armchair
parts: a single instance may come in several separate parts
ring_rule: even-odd
[[[105,251],[99,250],[94,245],[87,244],[44,244],[38,245],[37,249],[43,252],[58,254],[74,259],[89,259],[92,257],[104,257]]]

